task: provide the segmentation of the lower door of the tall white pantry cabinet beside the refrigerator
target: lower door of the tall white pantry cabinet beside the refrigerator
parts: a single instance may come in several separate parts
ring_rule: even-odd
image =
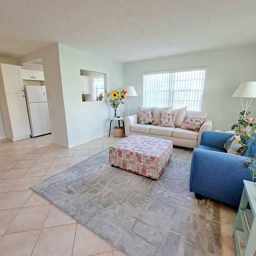
[[[28,110],[25,95],[6,94],[13,138],[30,135]]]

